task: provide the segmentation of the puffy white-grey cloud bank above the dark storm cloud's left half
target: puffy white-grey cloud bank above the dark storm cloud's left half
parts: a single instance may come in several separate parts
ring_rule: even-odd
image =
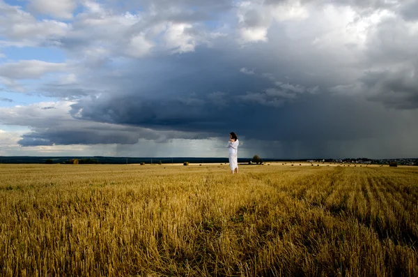
[[[62,47],[79,57],[89,56],[88,51],[102,48],[105,57],[125,56],[142,58],[156,50],[169,50],[171,54],[193,52],[199,43],[210,43],[218,38],[216,32],[196,31],[194,24],[175,22],[173,10],[167,15],[144,10],[136,14],[115,13],[107,6],[84,2],[87,10],[80,13],[72,24],[72,31],[62,41]],[[104,55],[100,55],[104,57]]]

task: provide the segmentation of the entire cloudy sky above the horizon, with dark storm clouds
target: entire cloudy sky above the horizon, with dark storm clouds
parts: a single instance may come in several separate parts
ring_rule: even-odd
[[[0,0],[1,156],[417,158],[416,0]]]

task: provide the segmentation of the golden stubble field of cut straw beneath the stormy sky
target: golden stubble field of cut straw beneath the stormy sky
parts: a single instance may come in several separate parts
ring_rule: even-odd
[[[0,276],[418,276],[418,168],[0,165]]]

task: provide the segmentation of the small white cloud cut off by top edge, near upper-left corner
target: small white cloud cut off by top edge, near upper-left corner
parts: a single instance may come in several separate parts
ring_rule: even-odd
[[[31,10],[63,19],[72,18],[72,12],[76,7],[75,0],[31,0],[29,4]]]

